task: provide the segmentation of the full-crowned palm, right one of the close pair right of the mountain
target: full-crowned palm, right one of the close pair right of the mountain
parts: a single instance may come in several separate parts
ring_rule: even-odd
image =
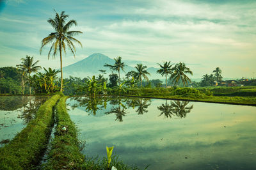
[[[185,86],[185,84],[188,85],[188,81],[191,82],[191,80],[185,73],[190,73],[193,75],[193,72],[186,67],[185,63],[177,63],[173,68],[173,74],[171,75],[170,79],[173,79],[172,82],[174,82],[174,84],[177,84],[177,82],[179,82],[181,79],[183,86]]]

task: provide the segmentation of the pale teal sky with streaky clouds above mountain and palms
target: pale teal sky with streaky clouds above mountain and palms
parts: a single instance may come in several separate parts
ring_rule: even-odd
[[[63,66],[99,52],[154,67],[181,61],[192,78],[216,67],[223,77],[252,78],[255,8],[256,1],[245,0],[0,0],[0,67],[15,66],[28,55],[42,67],[60,68],[60,58],[47,58],[49,46],[39,52],[42,39],[54,31],[47,20],[56,10],[77,21],[70,30],[83,32],[75,37],[83,48],[77,45],[76,59],[67,52]]]

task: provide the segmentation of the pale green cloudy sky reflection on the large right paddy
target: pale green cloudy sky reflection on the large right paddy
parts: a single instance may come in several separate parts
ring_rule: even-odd
[[[74,100],[69,98],[67,104]],[[127,107],[123,121],[115,114],[97,117],[83,107],[71,109],[70,117],[86,139],[88,157],[106,155],[106,145],[128,164],[148,169],[255,169],[256,107],[189,102],[186,118],[159,116],[151,100],[148,112],[138,115]],[[170,101],[168,100],[168,104]],[[112,105],[108,103],[107,110]],[[104,108],[100,112],[104,111]]]

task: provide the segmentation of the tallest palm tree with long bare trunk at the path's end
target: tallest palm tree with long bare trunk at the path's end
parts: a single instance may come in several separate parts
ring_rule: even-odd
[[[54,19],[49,19],[47,22],[51,24],[51,26],[54,28],[56,32],[49,34],[47,37],[45,37],[42,40],[42,45],[40,48],[40,54],[42,54],[42,49],[45,47],[45,45],[52,43],[51,48],[48,53],[48,59],[52,53],[52,57],[55,58],[57,55],[57,52],[60,52],[60,70],[61,70],[61,85],[60,85],[60,91],[62,91],[63,87],[63,72],[62,72],[62,51],[66,54],[66,48],[71,50],[72,54],[75,56],[76,47],[74,43],[79,43],[82,47],[82,43],[79,42],[76,38],[73,36],[81,34],[81,31],[69,31],[70,27],[73,25],[77,26],[76,20],[69,20],[66,23],[66,19],[68,18],[68,15],[65,14],[65,12],[59,13],[55,12],[56,16]]]

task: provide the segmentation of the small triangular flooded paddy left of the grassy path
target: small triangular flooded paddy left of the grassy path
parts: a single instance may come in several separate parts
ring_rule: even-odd
[[[0,147],[12,140],[27,123],[47,97],[0,96]]]

